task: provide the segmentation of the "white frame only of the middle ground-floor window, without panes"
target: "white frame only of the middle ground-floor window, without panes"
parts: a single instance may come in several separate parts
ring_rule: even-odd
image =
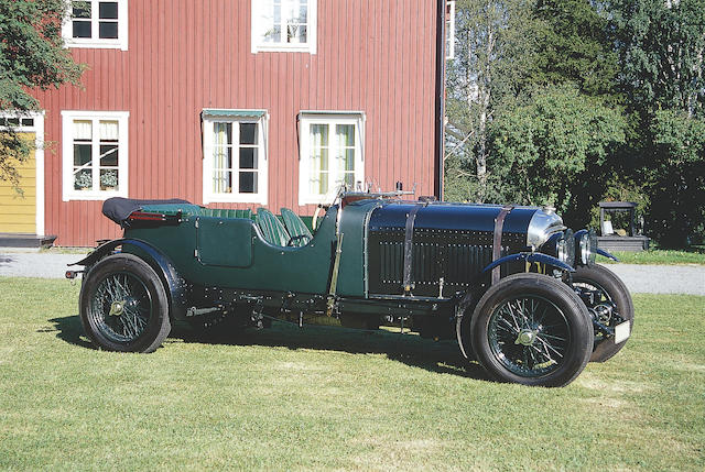
[[[220,110],[223,114],[217,114],[218,110],[204,110],[203,113],[203,204],[229,202],[229,204],[261,204],[267,205],[268,196],[268,136],[269,136],[269,114],[267,110]],[[240,112],[242,116],[228,114]],[[246,116],[251,112],[251,116]],[[257,167],[257,194],[215,193],[213,190],[214,177],[214,123],[257,123],[258,130],[258,167]],[[234,127],[235,130],[236,127]],[[239,125],[237,133],[232,133],[232,142],[239,143]],[[239,145],[239,144],[238,144]],[[239,166],[239,164],[238,164]],[[239,167],[238,167],[239,168]],[[237,169],[234,169],[237,172]]]

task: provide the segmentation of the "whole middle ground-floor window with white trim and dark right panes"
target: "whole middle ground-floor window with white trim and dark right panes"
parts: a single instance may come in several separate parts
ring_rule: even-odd
[[[267,118],[264,110],[204,110],[204,205],[267,205]]]

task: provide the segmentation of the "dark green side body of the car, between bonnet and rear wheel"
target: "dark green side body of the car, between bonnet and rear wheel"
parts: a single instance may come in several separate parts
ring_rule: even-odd
[[[313,241],[304,248],[268,243],[254,222],[247,218],[226,220],[188,216],[177,226],[127,228],[124,238],[142,240],[158,248],[178,274],[193,284],[325,294],[336,240],[336,213],[337,207],[328,210]],[[198,249],[205,252],[199,254]],[[250,264],[243,266],[248,256]]]

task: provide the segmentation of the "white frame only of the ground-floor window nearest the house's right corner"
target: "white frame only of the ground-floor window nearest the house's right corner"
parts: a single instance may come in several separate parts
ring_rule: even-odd
[[[302,111],[299,114],[299,205],[330,204],[338,191],[335,182],[338,179],[338,166],[328,166],[329,180],[328,193],[325,195],[312,194],[311,184],[311,125],[328,124],[329,139],[334,136],[330,131],[336,124],[355,125],[355,185],[365,184],[365,122],[362,111]],[[334,147],[330,144],[329,149]],[[335,158],[335,152],[329,153],[329,158]]]

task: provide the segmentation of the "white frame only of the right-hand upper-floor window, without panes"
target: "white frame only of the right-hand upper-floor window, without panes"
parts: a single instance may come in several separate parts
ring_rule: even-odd
[[[282,0],[288,2],[290,0]],[[316,54],[317,44],[317,0],[308,0],[308,14],[306,23],[306,43],[290,44],[286,42],[268,43],[264,42],[264,29],[267,24],[263,17],[267,14],[265,9],[271,7],[271,0],[251,0],[251,43],[252,54],[260,52],[285,52],[285,53],[310,53]],[[282,8],[283,10],[283,8]],[[284,18],[282,15],[282,22]],[[282,29],[282,37],[284,37],[285,31]]]

